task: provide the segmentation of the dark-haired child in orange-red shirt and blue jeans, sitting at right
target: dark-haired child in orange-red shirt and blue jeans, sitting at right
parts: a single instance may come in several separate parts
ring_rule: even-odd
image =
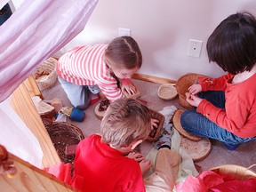
[[[228,74],[198,77],[188,88],[194,110],[182,113],[183,128],[220,140],[229,150],[256,140],[256,20],[248,12],[228,16],[207,42],[209,60]]]

